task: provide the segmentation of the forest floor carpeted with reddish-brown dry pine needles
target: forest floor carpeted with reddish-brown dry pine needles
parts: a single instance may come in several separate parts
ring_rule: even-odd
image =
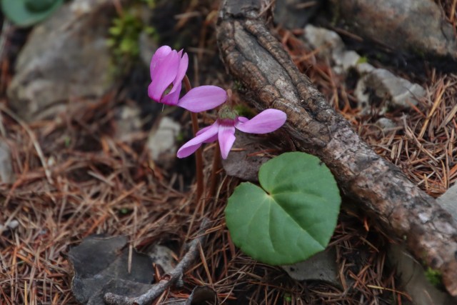
[[[215,54],[215,20],[210,21],[204,40],[188,50],[191,57]],[[452,115],[456,75],[426,72],[421,83],[426,98],[408,111],[386,114],[401,122],[386,131],[374,124],[376,111],[360,113],[347,80],[335,76],[328,63],[304,46],[299,31],[274,31],[303,73],[379,155],[431,196],[440,196],[457,181],[457,165],[448,158],[455,156],[457,145],[457,121]],[[11,71],[2,66],[4,93]],[[210,69],[220,86],[234,86],[221,63],[203,70]],[[281,268],[242,254],[232,244],[224,221],[227,198],[240,180],[220,170],[216,195],[204,196],[196,204],[194,184],[188,184],[179,170],[162,169],[149,158],[148,130],[136,131],[129,140],[116,138],[119,105],[134,103],[119,89],[96,104],[74,106],[54,119],[28,124],[9,110],[8,103],[6,97],[0,100],[0,134],[11,151],[15,180],[0,184],[0,222],[16,220],[19,226],[0,235],[0,304],[77,304],[66,254],[84,237],[124,235],[140,251],[151,244],[167,244],[178,258],[204,217],[211,219],[211,228],[184,286],[165,291],[164,303],[156,304],[186,298],[195,286],[204,285],[214,289],[224,304],[408,304],[411,300],[386,259],[386,245],[396,241],[361,211],[345,206],[330,245],[336,249],[341,286],[295,281]],[[181,119],[189,117],[183,114]],[[204,147],[206,181],[215,147]]]

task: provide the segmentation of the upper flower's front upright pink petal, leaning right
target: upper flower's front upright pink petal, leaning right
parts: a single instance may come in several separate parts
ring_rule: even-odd
[[[152,82],[148,88],[148,94],[154,101],[161,101],[162,94],[165,89],[176,78],[179,68],[179,56],[178,53],[173,50],[171,51],[162,61],[160,61],[154,73],[151,74]]]

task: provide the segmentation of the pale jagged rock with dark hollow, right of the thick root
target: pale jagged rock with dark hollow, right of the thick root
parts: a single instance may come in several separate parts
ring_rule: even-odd
[[[386,69],[374,69],[364,75],[354,91],[363,113],[370,111],[373,100],[387,101],[386,106],[408,108],[411,104],[416,105],[417,99],[425,94],[426,90],[422,86],[395,76]]]

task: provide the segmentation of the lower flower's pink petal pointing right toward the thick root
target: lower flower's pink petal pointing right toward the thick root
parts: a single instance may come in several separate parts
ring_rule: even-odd
[[[283,111],[266,109],[246,122],[243,122],[238,117],[235,127],[249,134],[266,134],[283,126],[286,119],[287,116]]]

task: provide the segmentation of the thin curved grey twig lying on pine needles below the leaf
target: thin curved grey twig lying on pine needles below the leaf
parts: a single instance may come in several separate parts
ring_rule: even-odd
[[[159,297],[166,289],[169,289],[171,285],[176,283],[184,275],[184,272],[189,269],[192,262],[199,256],[199,244],[204,244],[206,235],[204,231],[209,226],[209,219],[203,219],[201,222],[199,237],[191,241],[189,245],[189,251],[184,255],[183,259],[179,262],[176,268],[170,272],[168,280],[161,280],[159,283],[154,284],[149,291],[141,296],[129,297],[119,296],[119,294],[113,294],[111,292],[105,294],[104,301],[110,305],[146,305],[151,304],[151,301]]]

